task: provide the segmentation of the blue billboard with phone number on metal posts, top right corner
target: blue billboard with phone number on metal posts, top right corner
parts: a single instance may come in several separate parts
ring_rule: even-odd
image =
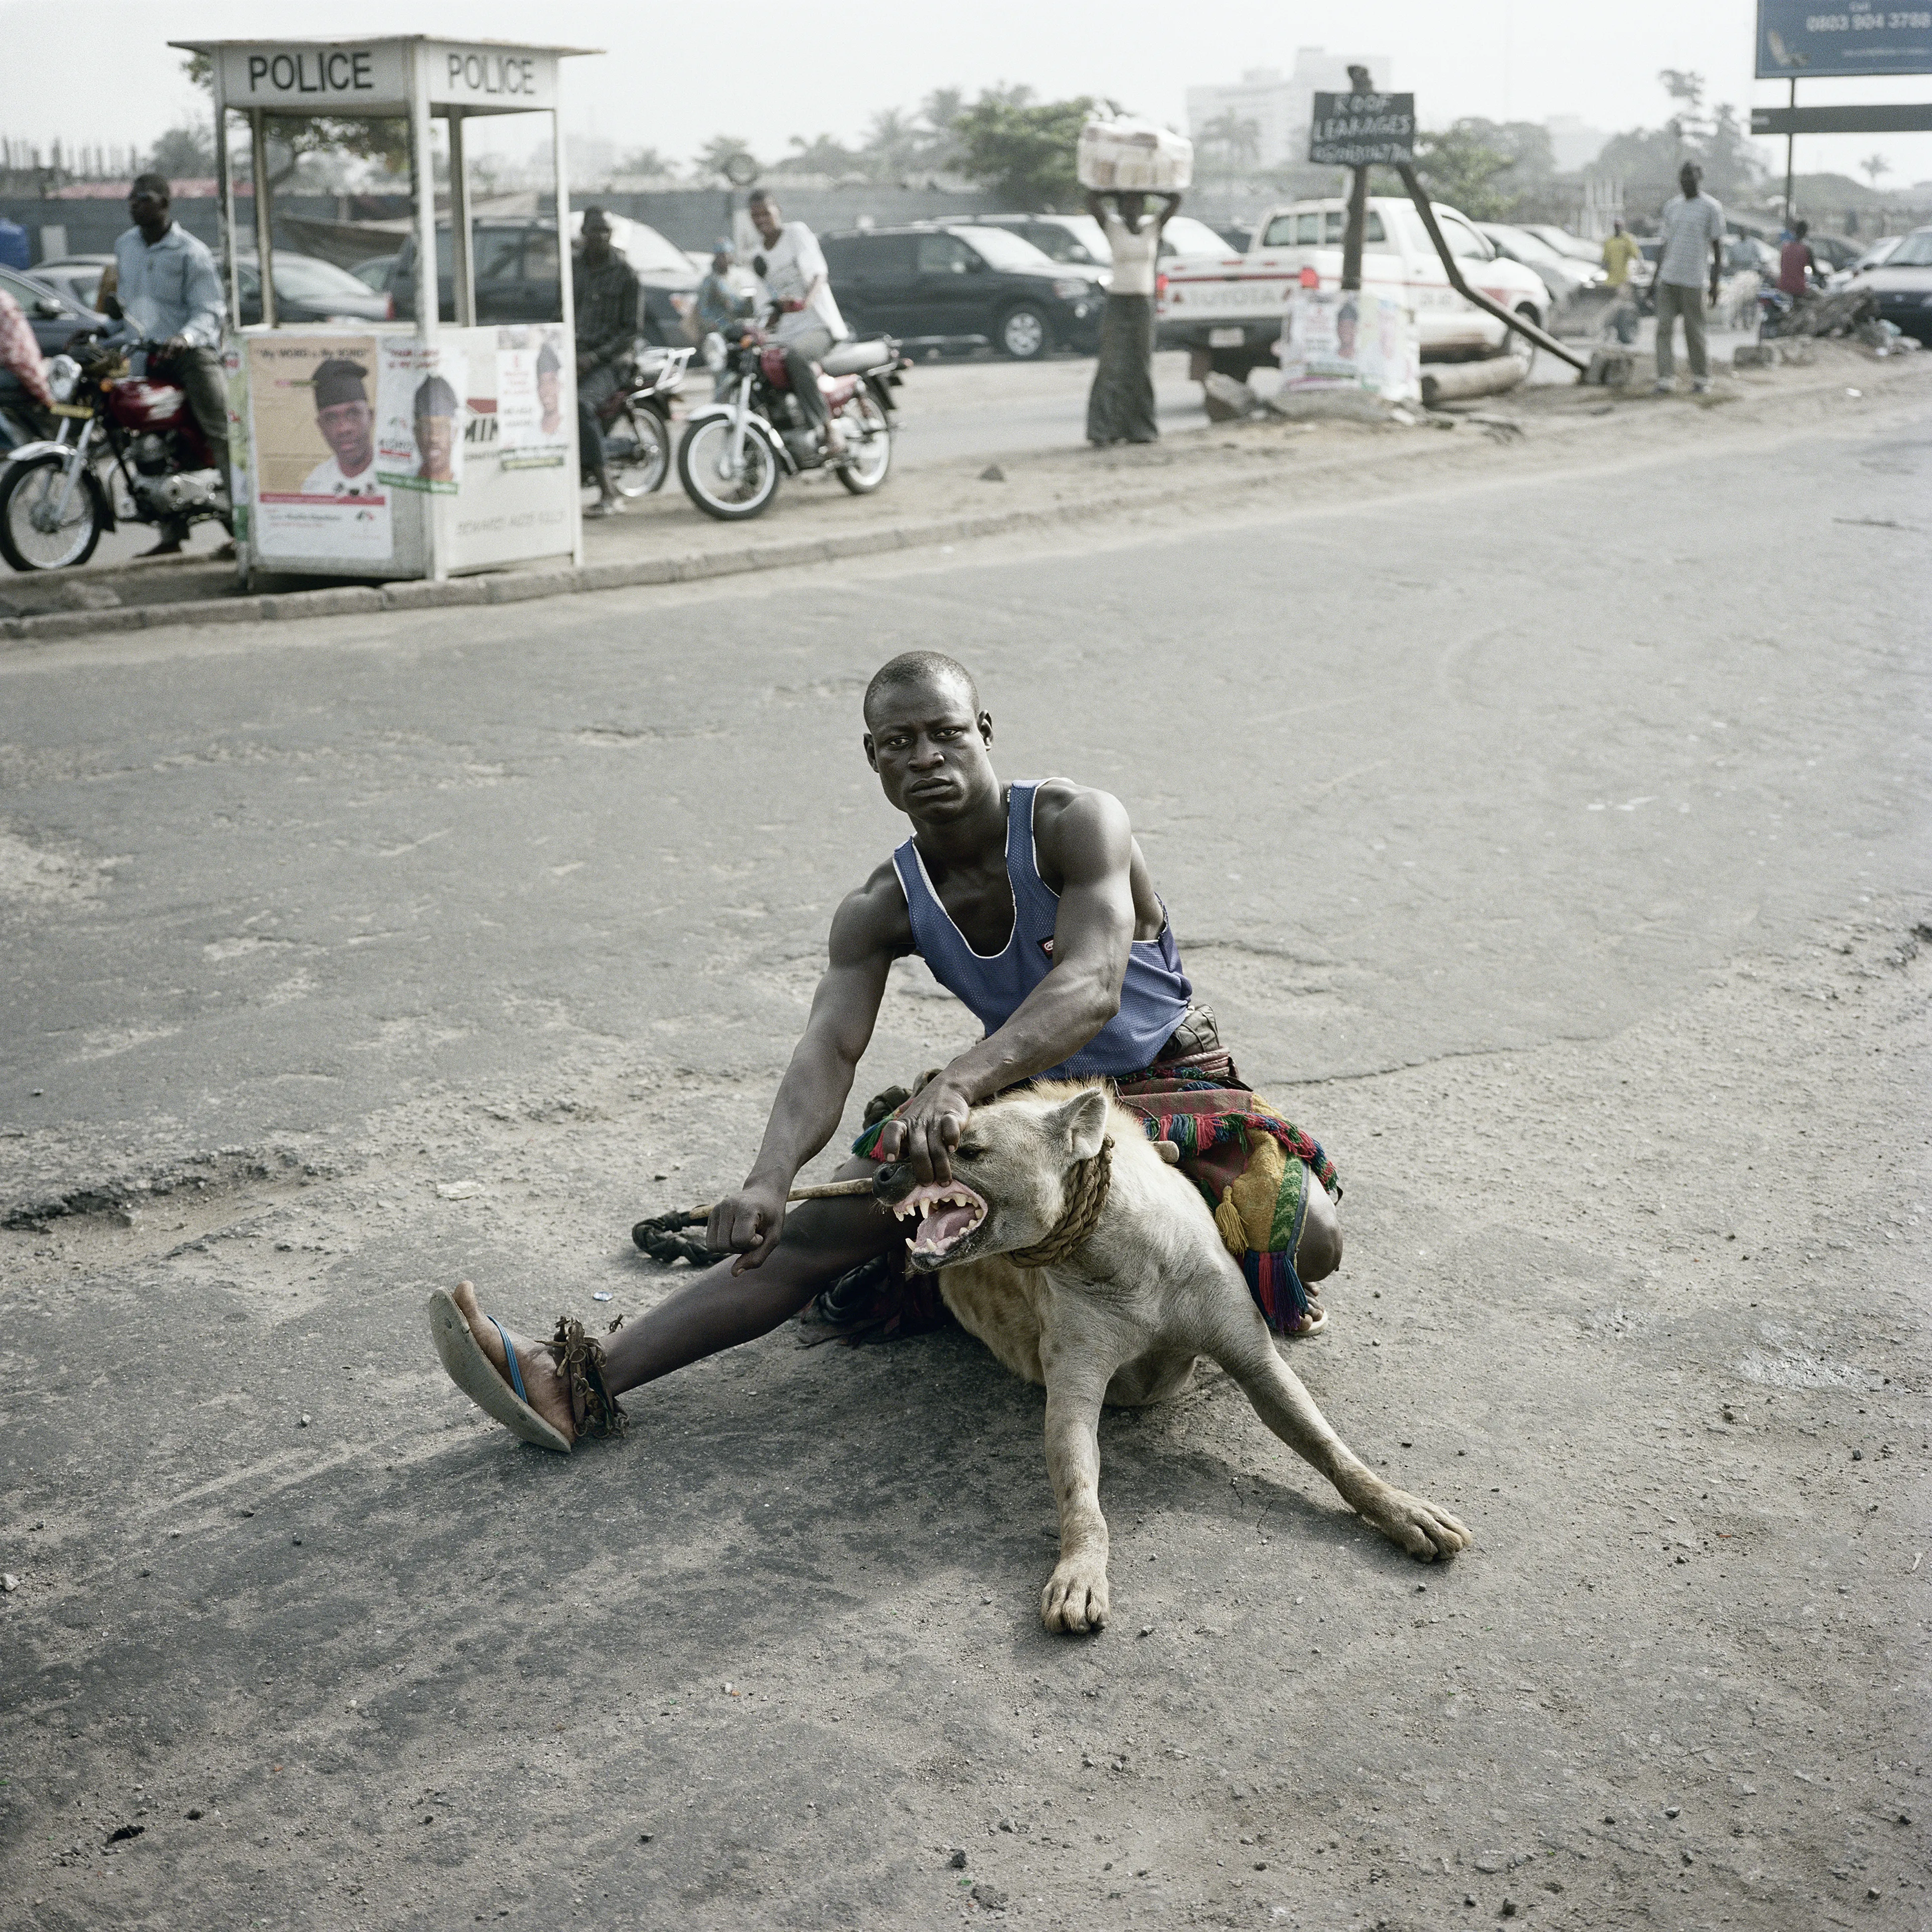
[[[1789,81],[1781,108],[1752,108],[1750,131],[1785,137],[1785,220],[1797,216],[1797,137],[1801,133],[1926,133],[1932,104],[1801,108],[1799,79],[1932,73],[1932,0],[1872,6],[1851,0],[1820,12],[1804,0],[1758,0],[1758,79]]]

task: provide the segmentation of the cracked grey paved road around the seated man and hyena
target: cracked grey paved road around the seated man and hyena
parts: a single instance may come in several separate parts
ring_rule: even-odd
[[[0,659],[0,1173],[81,1209],[0,1233],[12,1917],[1924,1924],[1932,412],[1861,408]],[[1126,798],[1347,1182],[1293,1364],[1453,1569],[1209,1381],[1109,1416],[1049,1640],[964,1337],[568,1463],[440,1379],[427,1287],[649,1306],[630,1219],[742,1169],[908,643]],[[906,968],[860,1095],[968,1036]]]

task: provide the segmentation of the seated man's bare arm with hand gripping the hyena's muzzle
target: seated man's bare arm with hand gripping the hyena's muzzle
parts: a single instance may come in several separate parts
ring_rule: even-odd
[[[1053,970],[1012,1018],[968,1047],[906,1103],[883,1148],[920,1179],[951,1180],[966,1115],[1001,1088],[1059,1066],[1119,1010],[1134,945],[1134,829],[1107,792],[1078,792],[1041,829],[1039,856],[1061,879]]]

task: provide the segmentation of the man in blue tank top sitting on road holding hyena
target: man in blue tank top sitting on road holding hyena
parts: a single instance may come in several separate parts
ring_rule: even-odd
[[[759,1155],[711,1211],[707,1248],[736,1262],[717,1262],[603,1341],[576,1321],[558,1321],[553,1343],[524,1341],[481,1312],[469,1283],[435,1296],[448,1318],[439,1325],[433,1316],[433,1325],[450,1376],[527,1441],[566,1449],[585,1428],[620,1426],[614,1397],[624,1389],[752,1341],[835,1287],[817,1310],[825,1325],[931,1325],[937,1312],[910,1302],[916,1285],[881,1265],[902,1258],[904,1233],[869,1198],[786,1211],[798,1169],[838,1126],[893,960],[912,952],[972,1009],[985,1037],[916,1094],[881,1095],[902,1105],[867,1130],[866,1157],[840,1167],[840,1179],[885,1159],[947,1182],[974,1105],[1030,1080],[1105,1076],[1150,1134],[1177,1134],[1194,1150],[1180,1169],[1215,1204],[1236,1179],[1279,1175],[1260,1233],[1242,1236],[1236,1225],[1231,1235],[1229,1206],[1217,1221],[1269,1323],[1287,1333],[1321,1325],[1306,1283],[1341,1262],[1325,1192],[1333,1165],[1240,1086],[1213,1014],[1192,1005],[1121,802],[1066,779],[1003,784],[991,744],[993,719],[952,659],[912,651],[873,676],[866,759],[912,837],[833,916],[831,960]],[[1180,1128],[1179,1117],[1188,1117]]]

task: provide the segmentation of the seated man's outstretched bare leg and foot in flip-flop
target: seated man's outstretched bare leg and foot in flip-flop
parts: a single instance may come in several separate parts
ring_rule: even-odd
[[[846,1161],[840,1180],[877,1173],[873,1161]],[[668,1376],[688,1362],[707,1354],[736,1349],[740,1343],[769,1335],[788,1321],[819,1289],[835,1283],[846,1269],[885,1254],[904,1231],[891,1215],[864,1196],[854,1200],[800,1202],[784,1217],[779,1246],[759,1267],[734,1275],[736,1256],[724,1256],[715,1267],[686,1281],[649,1314],[626,1321],[614,1335],[601,1337],[605,1350],[605,1387],[612,1395],[636,1389],[639,1383]],[[469,1323],[477,1347],[491,1366],[512,1383],[510,1350],[516,1350],[516,1374],[522,1397],[564,1441],[576,1441],[570,1412],[570,1391],[551,1356],[549,1345],[529,1341],[514,1329],[498,1329],[477,1302],[475,1289],[458,1283],[454,1302]]]

